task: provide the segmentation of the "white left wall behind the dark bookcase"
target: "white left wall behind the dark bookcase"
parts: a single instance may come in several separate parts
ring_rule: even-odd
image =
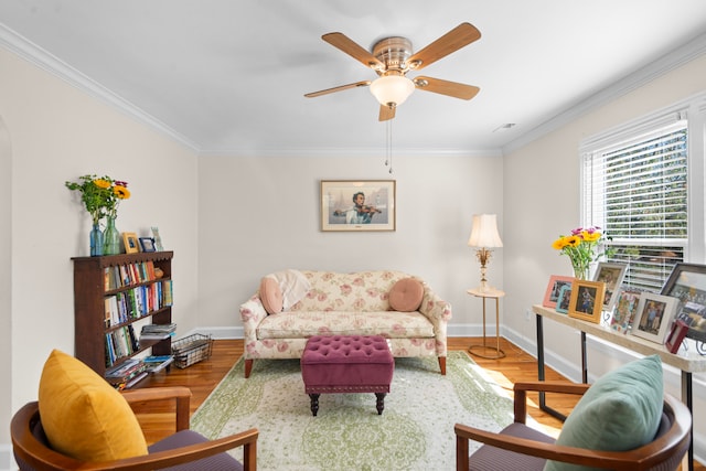
[[[88,255],[90,221],[64,182],[97,173],[129,183],[132,197],[120,206],[118,229],[148,235],[158,225],[165,247],[174,249],[174,317],[182,331],[196,325],[197,188],[192,151],[3,49],[0,69],[1,133],[12,144],[3,137],[0,146],[0,331],[9,370],[0,383],[0,418],[7,418],[8,408],[14,413],[36,399],[51,349],[74,352],[71,257]],[[0,443],[9,443],[2,421]]]

